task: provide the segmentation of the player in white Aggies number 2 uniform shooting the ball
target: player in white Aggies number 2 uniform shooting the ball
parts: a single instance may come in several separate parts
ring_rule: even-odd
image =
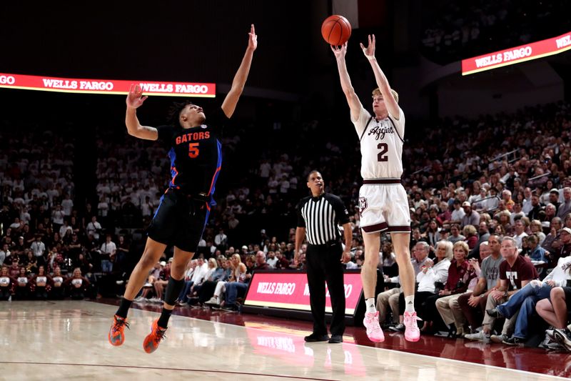
[[[389,232],[397,257],[400,284],[405,294],[405,339],[418,341],[417,317],[414,308],[415,273],[410,263],[410,214],[407,194],[400,177],[403,174],[403,138],[405,114],[398,107],[398,94],[390,89],[388,80],[375,59],[375,35],[369,36],[365,57],[375,73],[378,89],[373,90],[371,115],[361,104],[345,64],[347,43],[331,46],[335,54],[341,87],[347,97],[351,121],[355,124],[361,147],[361,176],[363,187],[359,191],[360,226],[365,243],[365,263],[361,269],[365,294],[365,320],[367,336],[373,342],[385,340],[375,308],[375,285],[379,261],[380,233]]]

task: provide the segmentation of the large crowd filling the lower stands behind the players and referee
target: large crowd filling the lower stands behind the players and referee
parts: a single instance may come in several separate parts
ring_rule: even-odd
[[[550,274],[571,249],[561,237],[562,228],[571,228],[570,114],[570,104],[560,102],[515,114],[443,119],[425,129],[422,140],[419,134],[407,135],[403,184],[410,196],[411,247],[425,242],[426,257],[435,264],[440,242],[465,244],[455,263],[464,252],[462,266],[471,266],[470,279],[477,279],[475,267],[484,259],[480,246],[489,234],[513,237],[518,254],[530,257],[540,279]],[[303,254],[300,263],[293,264],[293,242],[295,205],[307,193],[304,182],[310,169],[320,170],[328,192],[338,194],[347,205],[354,237],[353,259],[347,267],[360,266],[358,144],[346,139],[353,134],[350,128],[336,139],[320,139],[326,124],[302,124],[298,130],[304,139],[290,136],[286,124],[274,126],[266,142],[271,149],[252,150],[248,134],[257,132],[247,128],[226,134],[224,161],[249,169],[230,171],[217,187],[218,204],[198,246],[201,259],[196,260],[201,263],[189,267],[181,303],[236,309],[248,275],[257,266],[305,267]],[[61,284],[86,274],[88,285],[97,282],[98,274],[124,272],[126,262],[136,262],[144,242],[142,229],[158,207],[170,163],[158,144],[127,139],[98,132],[98,203],[79,208],[74,205],[73,149],[66,134],[45,132],[44,144],[36,144],[26,131],[7,134],[0,154],[0,263],[9,269],[11,296],[38,297],[37,287],[50,292],[54,274],[63,274]],[[315,149],[323,154],[315,155]],[[389,236],[382,239],[380,271],[389,281],[398,269]],[[164,264],[157,264],[143,299],[160,299],[169,257],[171,252],[166,252]],[[470,258],[478,264],[468,262]],[[26,286],[26,292],[19,282],[24,277],[26,283],[36,282]],[[448,279],[441,280],[447,284]],[[446,286],[443,290],[451,291]],[[437,310],[428,311],[436,320]],[[475,328],[463,325],[455,330],[465,333]]]

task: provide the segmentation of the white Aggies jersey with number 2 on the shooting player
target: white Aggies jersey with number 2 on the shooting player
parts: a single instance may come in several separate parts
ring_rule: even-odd
[[[403,175],[405,114],[400,107],[398,113],[398,120],[389,115],[378,121],[361,106],[359,118],[351,117],[361,144],[363,179],[400,179]]]

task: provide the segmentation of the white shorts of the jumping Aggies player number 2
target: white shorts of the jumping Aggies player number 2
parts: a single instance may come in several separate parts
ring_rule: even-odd
[[[359,214],[365,233],[410,233],[408,198],[400,182],[363,184],[359,189]]]

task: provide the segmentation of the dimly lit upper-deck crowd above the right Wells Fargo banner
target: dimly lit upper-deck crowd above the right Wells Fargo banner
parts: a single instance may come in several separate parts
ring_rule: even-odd
[[[440,64],[559,36],[569,21],[551,1],[430,1],[422,51]]]

